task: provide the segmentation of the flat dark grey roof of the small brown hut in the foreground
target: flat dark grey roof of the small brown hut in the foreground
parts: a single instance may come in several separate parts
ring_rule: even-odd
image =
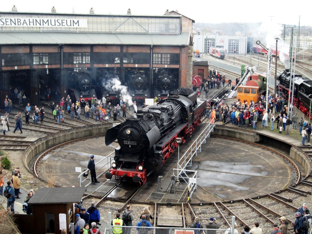
[[[79,202],[86,188],[40,188],[27,202],[28,204],[52,204]]]

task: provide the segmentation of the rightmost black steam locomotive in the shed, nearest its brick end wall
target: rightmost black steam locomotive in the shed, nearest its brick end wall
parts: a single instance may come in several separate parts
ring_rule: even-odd
[[[178,88],[178,82],[168,69],[159,69],[156,75],[155,96],[166,97]]]

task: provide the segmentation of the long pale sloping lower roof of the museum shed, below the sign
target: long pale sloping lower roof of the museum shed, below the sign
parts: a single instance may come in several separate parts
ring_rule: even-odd
[[[186,45],[190,33],[180,35],[100,34],[100,33],[0,33],[0,45],[15,44],[100,44],[100,45]]]

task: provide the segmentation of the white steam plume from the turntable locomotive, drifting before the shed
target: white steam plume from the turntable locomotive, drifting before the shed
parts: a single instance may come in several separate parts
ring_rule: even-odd
[[[121,85],[120,80],[118,80],[117,78],[103,80],[102,86],[106,90],[112,90],[114,92],[121,93],[122,100],[126,102],[128,106],[133,105],[132,97],[128,93],[128,87],[125,85]]]

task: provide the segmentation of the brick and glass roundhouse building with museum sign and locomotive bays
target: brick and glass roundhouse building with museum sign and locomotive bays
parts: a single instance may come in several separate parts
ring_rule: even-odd
[[[172,13],[172,14],[171,14]],[[194,21],[178,12],[160,16],[0,12],[0,96],[2,107],[13,90],[31,104],[105,95],[137,102],[190,87]],[[108,86],[107,86],[108,85]],[[116,86],[115,85],[115,86]],[[48,95],[49,94],[49,95]],[[13,98],[14,102],[14,98]]]

